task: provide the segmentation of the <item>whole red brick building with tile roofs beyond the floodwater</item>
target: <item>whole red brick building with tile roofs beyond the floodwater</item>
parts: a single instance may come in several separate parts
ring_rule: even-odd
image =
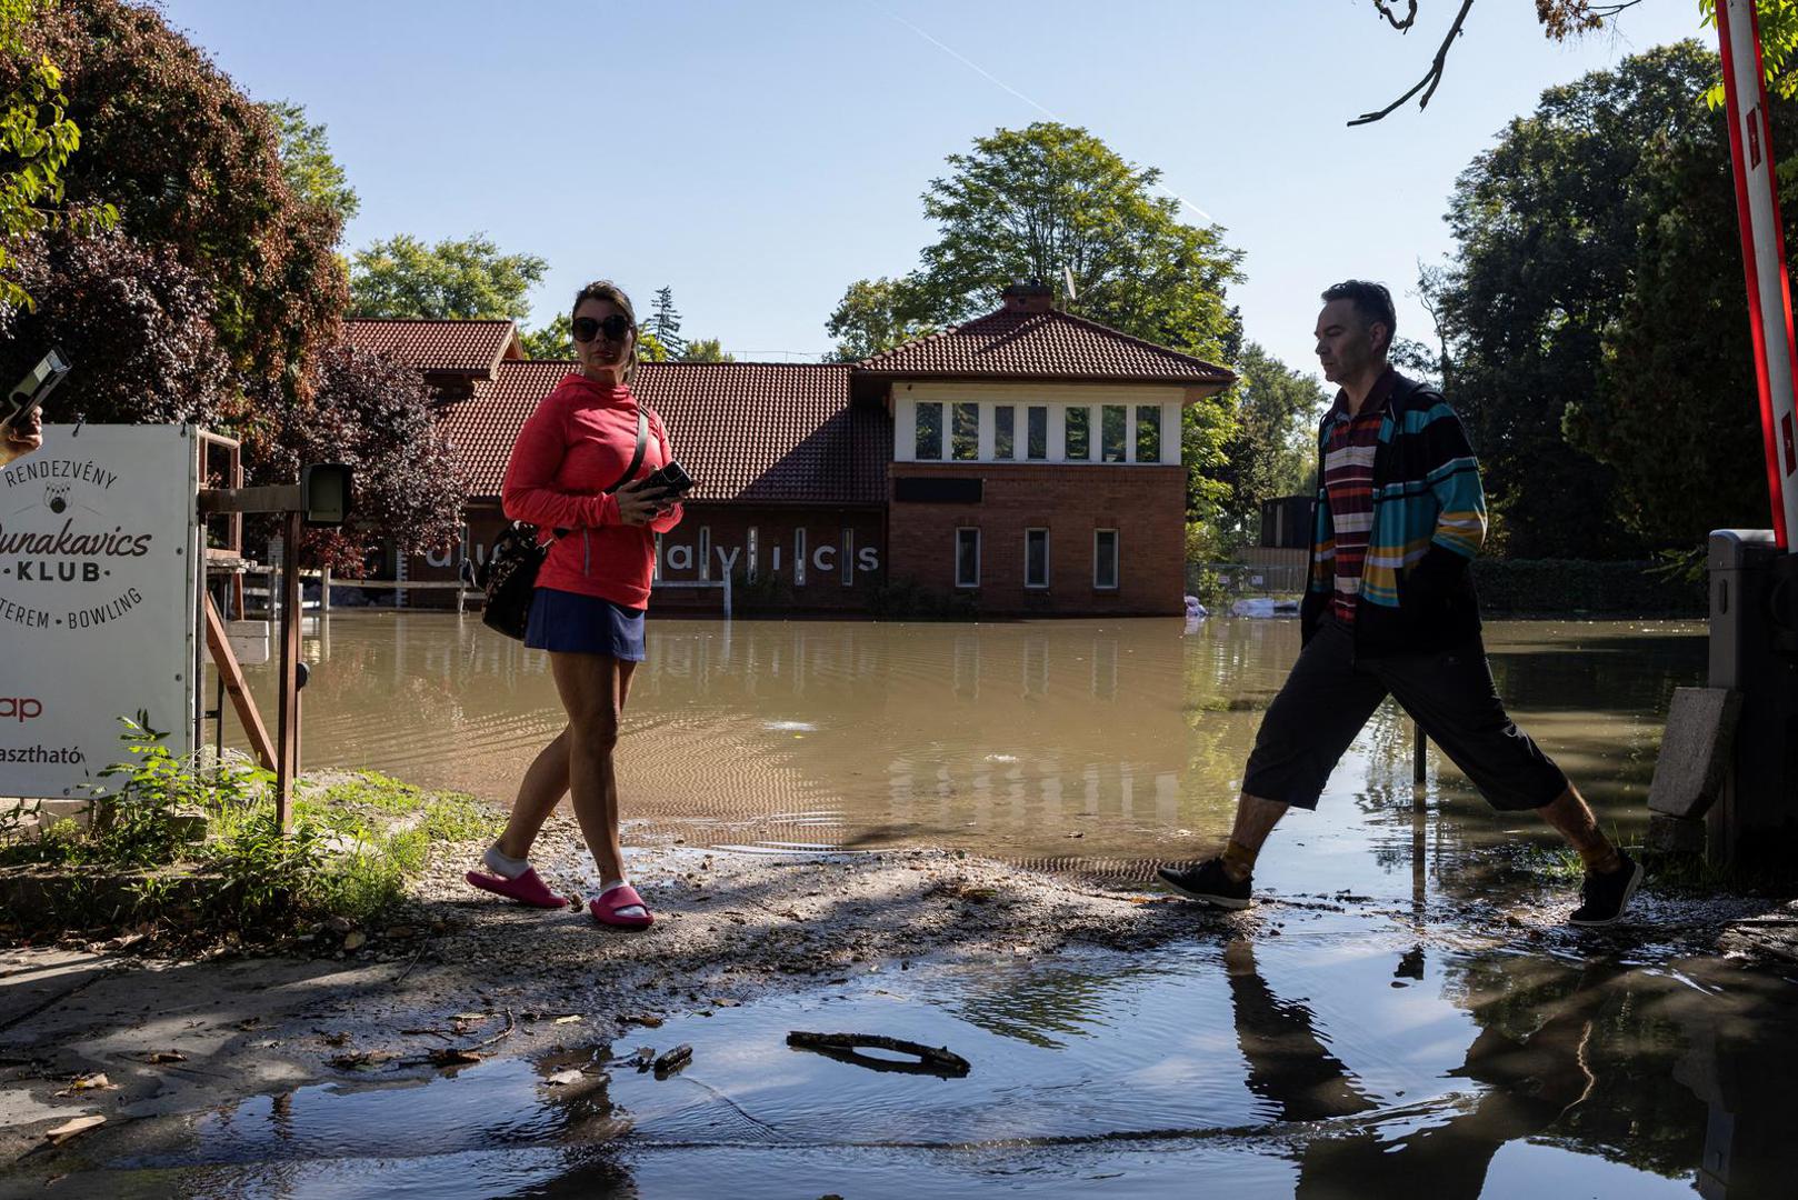
[[[642,363],[631,387],[698,480],[656,554],[658,585],[689,587],[651,604],[716,612],[690,585],[728,572],[744,610],[865,613],[894,585],[992,617],[1179,613],[1179,414],[1233,376],[1050,300],[1010,288],[1000,311],[861,363]],[[441,398],[473,477],[464,545],[396,569],[453,578],[503,524],[512,439],[570,363],[521,360],[509,322],[349,336]]]

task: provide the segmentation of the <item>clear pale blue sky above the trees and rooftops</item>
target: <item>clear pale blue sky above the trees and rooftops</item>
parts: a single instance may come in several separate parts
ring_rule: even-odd
[[[919,194],[994,128],[1086,126],[1246,252],[1248,336],[1314,369],[1318,290],[1451,248],[1455,176],[1543,88],[1701,31],[1647,0],[1618,34],[1543,38],[1525,0],[1476,4],[1424,113],[1375,126],[1428,67],[1453,0],[1393,34],[1368,0],[167,0],[252,97],[329,128],[361,196],[347,248],[482,230],[550,263],[547,320],[592,277],[739,358],[827,351],[854,279],[933,241]],[[935,41],[933,41],[935,40]],[[937,45],[940,43],[940,45]],[[946,49],[944,49],[946,47]],[[966,61],[964,61],[966,59]],[[971,63],[971,65],[969,65]],[[1424,335],[1399,295],[1401,333]]]

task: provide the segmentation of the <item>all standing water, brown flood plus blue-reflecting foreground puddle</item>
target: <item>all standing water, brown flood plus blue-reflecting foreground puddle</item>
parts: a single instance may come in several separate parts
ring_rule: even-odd
[[[450,615],[306,642],[306,765],[505,801],[561,725],[541,655]],[[1145,880],[1228,828],[1280,621],[660,622],[620,772],[638,829],[746,851],[967,847]],[[1625,837],[1703,630],[1494,622],[1518,720]],[[257,687],[266,687],[261,671]],[[1487,810],[1383,709],[1257,871],[1257,921],[1153,954],[858,975],[619,1043],[144,1121],[50,1195],[1793,1195],[1798,984],[1679,941],[1678,905],[1582,939],[1552,838]],[[1521,849],[1521,853],[1519,853]],[[1548,885],[1553,892],[1555,885]],[[964,1079],[791,1051],[788,1029],[951,1045]],[[672,1078],[617,1060],[694,1047]],[[552,1085],[570,1069],[575,1085]],[[43,1193],[34,1193],[43,1195]]]

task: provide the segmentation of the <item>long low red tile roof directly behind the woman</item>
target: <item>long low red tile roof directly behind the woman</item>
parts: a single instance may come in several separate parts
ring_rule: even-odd
[[[493,383],[439,412],[437,426],[498,497],[525,417],[574,363],[502,362]],[[892,421],[849,403],[847,363],[642,363],[636,396],[662,414],[694,500],[883,504]]]

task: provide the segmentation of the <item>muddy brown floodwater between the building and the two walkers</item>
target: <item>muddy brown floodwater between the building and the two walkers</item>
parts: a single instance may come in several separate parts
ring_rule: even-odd
[[[1636,831],[1672,689],[1703,682],[1703,626],[1494,622],[1487,644],[1519,723],[1607,822]],[[1295,621],[1214,619],[1192,635],[1178,621],[651,622],[622,808],[712,846],[933,844],[1147,880],[1153,860],[1228,829],[1296,653]],[[309,770],[374,768],[507,804],[563,725],[547,655],[473,617],[334,613],[306,655]],[[250,675],[271,696],[273,669]],[[227,739],[243,745],[234,727]],[[1305,891],[1318,873],[1366,887],[1368,849],[1410,858],[1410,781],[1411,725],[1388,703],[1320,813],[1282,831],[1316,842]],[[1539,833],[1498,820],[1435,752],[1424,795],[1442,867],[1514,828]]]

